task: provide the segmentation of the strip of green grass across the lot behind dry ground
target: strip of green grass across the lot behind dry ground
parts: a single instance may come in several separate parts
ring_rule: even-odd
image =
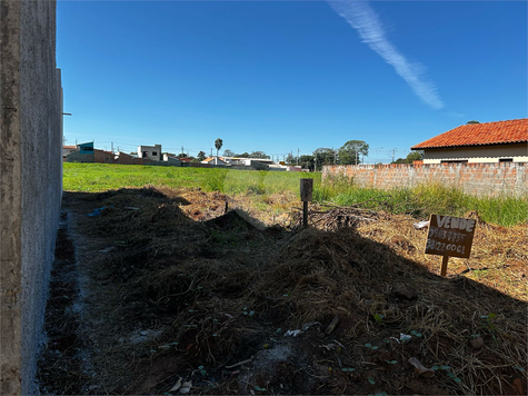
[[[64,164],[63,188],[69,191],[106,191],[123,187],[167,186],[201,188],[230,196],[252,192],[266,197],[293,191],[299,179],[313,178],[313,200],[383,209],[426,218],[430,214],[464,216],[476,210],[484,221],[502,226],[528,222],[528,198],[477,198],[454,188],[420,186],[412,189],[378,190],[359,188],[347,180],[321,184],[320,174],[126,166],[107,164]]]

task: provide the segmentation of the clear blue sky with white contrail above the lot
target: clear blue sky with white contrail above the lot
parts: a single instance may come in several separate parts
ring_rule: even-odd
[[[527,117],[526,1],[58,1],[66,143],[368,164]]]

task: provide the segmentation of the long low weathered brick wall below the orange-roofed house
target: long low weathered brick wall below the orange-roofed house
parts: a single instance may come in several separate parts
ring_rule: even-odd
[[[528,194],[528,164],[325,166],[322,179],[332,176],[346,176],[358,186],[380,189],[441,184],[477,196]]]

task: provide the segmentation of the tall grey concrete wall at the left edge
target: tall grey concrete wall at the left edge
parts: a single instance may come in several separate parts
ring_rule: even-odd
[[[61,198],[56,2],[0,4],[0,394],[32,394]]]

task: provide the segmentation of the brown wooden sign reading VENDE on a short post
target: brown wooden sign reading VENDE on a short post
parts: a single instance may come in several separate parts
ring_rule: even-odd
[[[431,215],[426,254],[444,256],[441,260],[441,276],[447,274],[449,257],[469,257],[476,224],[477,221],[474,219]]]

